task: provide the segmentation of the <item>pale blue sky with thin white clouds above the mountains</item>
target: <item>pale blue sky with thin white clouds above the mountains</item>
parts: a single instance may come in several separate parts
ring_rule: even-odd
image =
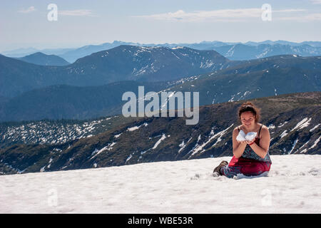
[[[49,4],[58,20],[48,21]],[[272,20],[263,21],[263,4]],[[321,0],[1,1],[0,51],[138,43],[321,41]]]

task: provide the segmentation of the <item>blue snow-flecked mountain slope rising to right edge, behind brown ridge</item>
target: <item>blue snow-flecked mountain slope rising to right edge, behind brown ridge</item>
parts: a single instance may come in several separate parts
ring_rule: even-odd
[[[205,73],[170,90],[198,91],[200,105],[321,90],[321,57],[272,56]]]

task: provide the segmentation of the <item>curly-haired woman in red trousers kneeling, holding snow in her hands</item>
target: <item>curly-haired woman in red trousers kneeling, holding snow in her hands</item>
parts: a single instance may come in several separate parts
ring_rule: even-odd
[[[265,125],[258,123],[260,110],[246,102],[238,109],[238,117],[242,125],[233,130],[232,160],[220,162],[214,169],[216,176],[255,176],[270,170],[270,133]]]

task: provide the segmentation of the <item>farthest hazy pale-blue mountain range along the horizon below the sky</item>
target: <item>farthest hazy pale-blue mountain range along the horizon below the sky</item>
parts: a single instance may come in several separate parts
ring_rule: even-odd
[[[104,51],[115,48],[120,45],[132,46],[163,46],[173,48],[176,46],[185,46],[197,50],[215,50],[231,60],[248,60],[253,58],[263,58],[273,55],[295,54],[300,56],[320,56],[320,41],[304,41],[300,43],[290,41],[262,41],[246,43],[240,42],[222,42],[222,41],[202,41],[200,43],[133,43],[123,41],[113,41],[113,43],[102,43],[99,45],[87,45],[80,48],[51,48],[38,50],[36,48],[21,48],[12,51],[4,51],[2,54],[8,57],[22,57],[27,54],[42,52],[47,55],[56,55],[73,63],[78,58],[91,55],[98,51]]]

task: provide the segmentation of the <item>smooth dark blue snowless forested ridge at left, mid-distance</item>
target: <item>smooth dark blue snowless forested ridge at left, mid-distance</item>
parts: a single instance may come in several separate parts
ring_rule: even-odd
[[[84,120],[119,115],[123,103],[126,103],[122,100],[123,93],[132,91],[138,95],[138,86],[144,86],[146,91],[159,91],[168,88],[168,83],[119,81],[106,86],[39,88],[4,102],[0,107],[0,120]]]

